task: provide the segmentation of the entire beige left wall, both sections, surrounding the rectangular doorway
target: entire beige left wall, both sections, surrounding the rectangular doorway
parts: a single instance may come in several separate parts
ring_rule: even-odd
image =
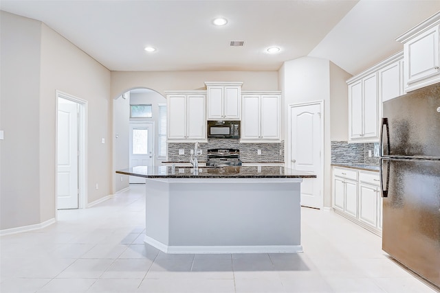
[[[56,90],[88,102],[88,202],[111,194],[110,71],[43,23],[7,12],[1,60],[0,229],[56,217]]]

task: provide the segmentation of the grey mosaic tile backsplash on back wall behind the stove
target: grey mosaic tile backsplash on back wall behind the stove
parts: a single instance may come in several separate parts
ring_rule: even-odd
[[[241,161],[252,162],[279,162],[284,161],[284,141],[281,143],[240,143],[238,139],[208,139],[208,143],[200,143],[201,158],[206,160],[208,149],[235,148],[240,150]],[[190,150],[194,143],[168,143],[168,161],[189,161]],[[185,154],[179,154],[184,150]],[[261,154],[258,154],[261,150]]]

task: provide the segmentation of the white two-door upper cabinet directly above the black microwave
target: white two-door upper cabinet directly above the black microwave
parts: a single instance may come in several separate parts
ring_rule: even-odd
[[[243,82],[205,82],[208,120],[239,120]]]

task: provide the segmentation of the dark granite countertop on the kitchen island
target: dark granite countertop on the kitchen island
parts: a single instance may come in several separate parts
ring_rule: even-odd
[[[300,172],[281,166],[192,167],[139,166],[116,171],[118,174],[145,178],[316,178],[311,172]]]

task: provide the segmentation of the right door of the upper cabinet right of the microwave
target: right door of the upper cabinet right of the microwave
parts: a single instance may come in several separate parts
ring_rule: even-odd
[[[261,137],[280,139],[280,96],[261,96]]]

